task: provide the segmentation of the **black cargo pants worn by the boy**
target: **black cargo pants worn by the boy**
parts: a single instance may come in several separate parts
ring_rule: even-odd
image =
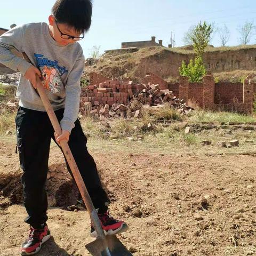
[[[63,117],[63,112],[64,109],[55,111],[59,122]],[[22,107],[18,109],[15,123],[20,165],[23,170],[21,182],[24,203],[28,213],[25,222],[36,228],[47,220],[48,205],[45,182],[50,142],[51,139],[55,141],[54,130],[46,112]],[[102,189],[94,159],[87,151],[86,142],[87,139],[77,119],[74,129],[71,131],[68,145],[92,198],[94,207],[99,208],[100,212],[105,212],[107,210],[105,203],[108,202],[108,198],[105,190]],[[68,164],[67,167],[71,174]],[[73,175],[71,174],[71,176]]]

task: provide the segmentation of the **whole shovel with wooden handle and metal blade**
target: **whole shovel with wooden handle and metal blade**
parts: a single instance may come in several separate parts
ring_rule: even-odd
[[[22,53],[23,57],[31,63],[26,53]],[[38,75],[36,75],[36,89],[41,97],[45,110],[50,118],[52,123],[53,129],[57,134],[61,134],[62,130],[59,124],[59,121],[53,111],[51,103],[45,93],[43,88],[41,79]],[[119,241],[119,239],[114,236],[105,236],[103,233],[101,223],[98,217],[98,213],[95,210],[91,197],[86,189],[82,176],[78,170],[76,165],[75,159],[71,153],[71,150],[68,146],[68,142],[66,140],[60,141],[60,146],[62,148],[63,154],[65,155],[67,162],[70,166],[70,169],[73,173],[75,182],[77,187],[82,195],[83,201],[86,205],[86,209],[90,213],[91,221],[93,223],[94,229],[97,231],[97,238],[92,243],[87,244],[85,247],[86,249],[93,255],[93,256],[132,256],[132,254],[124,247],[124,245]]]

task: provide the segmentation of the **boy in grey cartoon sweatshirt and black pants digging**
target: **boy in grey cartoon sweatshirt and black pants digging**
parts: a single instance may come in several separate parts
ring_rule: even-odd
[[[80,78],[84,55],[76,42],[84,38],[91,26],[91,0],[57,0],[52,7],[49,25],[29,23],[15,27],[0,37],[0,62],[21,72],[17,89],[20,98],[15,118],[17,147],[23,170],[24,202],[30,225],[28,239],[22,244],[21,254],[35,254],[50,238],[47,227],[47,197],[45,182],[51,138],[59,143],[67,140],[78,169],[92,198],[106,235],[127,229],[123,221],[109,215],[106,192],[101,187],[94,159],[88,153],[87,139],[79,123],[78,109],[81,93]],[[10,50],[25,52],[33,65],[16,57]],[[62,134],[54,134],[43,103],[36,93],[36,74],[43,85],[61,124]],[[67,164],[70,172],[69,166]],[[71,173],[71,172],[70,172]],[[97,237],[92,227],[91,236]]]

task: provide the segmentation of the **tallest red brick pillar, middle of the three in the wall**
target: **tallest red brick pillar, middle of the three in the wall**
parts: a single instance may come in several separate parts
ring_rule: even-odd
[[[203,77],[203,107],[211,107],[214,105],[215,82],[212,74],[207,73]]]

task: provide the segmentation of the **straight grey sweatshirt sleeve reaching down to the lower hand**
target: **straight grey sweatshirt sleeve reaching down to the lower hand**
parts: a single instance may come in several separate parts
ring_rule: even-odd
[[[65,110],[60,125],[62,130],[68,130],[69,132],[75,127],[74,123],[78,117],[81,94],[80,79],[84,70],[84,61],[84,55],[81,53],[68,75],[66,84]]]

